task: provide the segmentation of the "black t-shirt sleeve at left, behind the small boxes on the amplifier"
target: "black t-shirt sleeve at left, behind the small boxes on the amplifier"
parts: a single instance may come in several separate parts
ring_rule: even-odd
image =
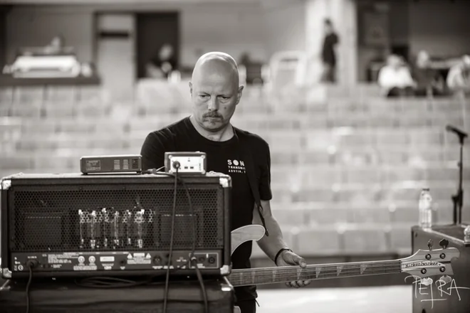
[[[142,169],[159,169],[164,166],[164,153],[170,151],[171,140],[161,132],[151,132],[145,138],[140,155],[142,156]]]

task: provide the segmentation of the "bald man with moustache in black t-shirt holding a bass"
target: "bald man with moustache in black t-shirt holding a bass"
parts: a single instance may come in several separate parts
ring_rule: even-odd
[[[234,58],[213,52],[197,60],[189,82],[192,115],[148,134],[142,146],[144,169],[164,165],[164,152],[201,151],[207,154],[208,171],[228,174],[232,179],[231,229],[252,223],[268,230],[258,245],[276,265],[301,265],[303,258],[288,249],[281,228],[271,213],[271,159],[266,141],[256,134],[233,127],[230,123],[239,104],[243,86]],[[246,151],[251,152],[253,166],[247,166]],[[262,209],[255,204],[249,184],[248,167],[255,171],[256,186]],[[250,268],[252,243],[244,243],[232,255],[232,268]],[[309,281],[287,282],[290,287],[303,287]],[[256,286],[236,287],[236,304],[241,313],[256,312]]]

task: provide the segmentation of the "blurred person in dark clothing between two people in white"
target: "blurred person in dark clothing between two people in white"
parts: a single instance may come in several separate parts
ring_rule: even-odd
[[[432,68],[427,51],[419,51],[412,68],[412,75],[416,83],[414,95],[433,97],[444,94],[444,80],[439,71]]]

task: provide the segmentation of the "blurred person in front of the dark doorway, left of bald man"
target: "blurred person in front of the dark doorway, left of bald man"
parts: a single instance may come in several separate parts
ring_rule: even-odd
[[[155,58],[146,65],[147,77],[160,80],[168,80],[169,76],[176,70],[177,61],[173,46],[164,43]]]

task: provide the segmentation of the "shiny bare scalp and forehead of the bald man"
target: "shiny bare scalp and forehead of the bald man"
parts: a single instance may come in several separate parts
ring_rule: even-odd
[[[192,84],[202,79],[222,79],[239,87],[239,68],[231,55],[223,52],[209,52],[202,55],[194,65]]]

